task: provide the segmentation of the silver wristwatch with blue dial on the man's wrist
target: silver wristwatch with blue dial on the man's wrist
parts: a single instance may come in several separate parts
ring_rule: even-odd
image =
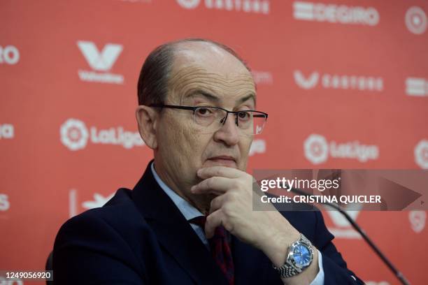
[[[293,242],[287,251],[287,259],[283,266],[273,269],[280,273],[280,277],[288,278],[298,275],[311,265],[313,261],[313,247],[311,242],[301,233],[299,240]]]

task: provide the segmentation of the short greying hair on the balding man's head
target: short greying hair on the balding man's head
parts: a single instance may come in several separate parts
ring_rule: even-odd
[[[137,85],[138,105],[164,103],[166,94],[168,93],[168,82],[171,75],[174,52],[178,44],[187,42],[204,42],[216,45],[236,57],[250,71],[246,62],[231,47],[222,43],[204,38],[185,38],[179,41],[164,43],[150,52],[141,68]]]

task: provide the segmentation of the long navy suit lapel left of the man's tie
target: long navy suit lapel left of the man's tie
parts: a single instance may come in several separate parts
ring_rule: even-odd
[[[132,191],[138,210],[157,235],[162,247],[169,251],[197,284],[227,284],[211,253],[157,184],[150,163]]]

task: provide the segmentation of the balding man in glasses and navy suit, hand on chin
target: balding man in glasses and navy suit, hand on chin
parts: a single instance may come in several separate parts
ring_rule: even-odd
[[[233,50],[200,39],[157,47],[138,103],[154,161],[132,191],[62,226],[56,284],[362,283],[320,212],[252,210],[245,169],[267,114]]]

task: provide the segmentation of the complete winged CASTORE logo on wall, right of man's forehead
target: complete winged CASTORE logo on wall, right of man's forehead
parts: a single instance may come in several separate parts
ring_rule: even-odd
[[[332,89],[357,89],[360,91],[383,91],[383,78],[360,75],[337,75],[313,71],[310,75],[304,75],[301,71],[294,71],[294,82],[301,89],[313,89],[321,81],[323,88]]]

